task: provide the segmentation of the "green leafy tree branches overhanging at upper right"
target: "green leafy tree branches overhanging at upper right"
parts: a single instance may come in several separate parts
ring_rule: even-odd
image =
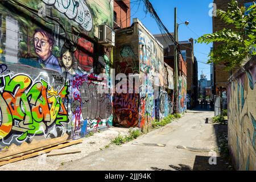
[[[245,12],[249,14],[245,15]],[[256,55],[256,4],[253,3],[246,10],[232,0],[228,4],[228,11],[217,10],[217,17],[233,28],[205,34],[196,42],[220,43],[209,53],[208,64],[225,64],[228,70],[240,67],[244,60]]]

